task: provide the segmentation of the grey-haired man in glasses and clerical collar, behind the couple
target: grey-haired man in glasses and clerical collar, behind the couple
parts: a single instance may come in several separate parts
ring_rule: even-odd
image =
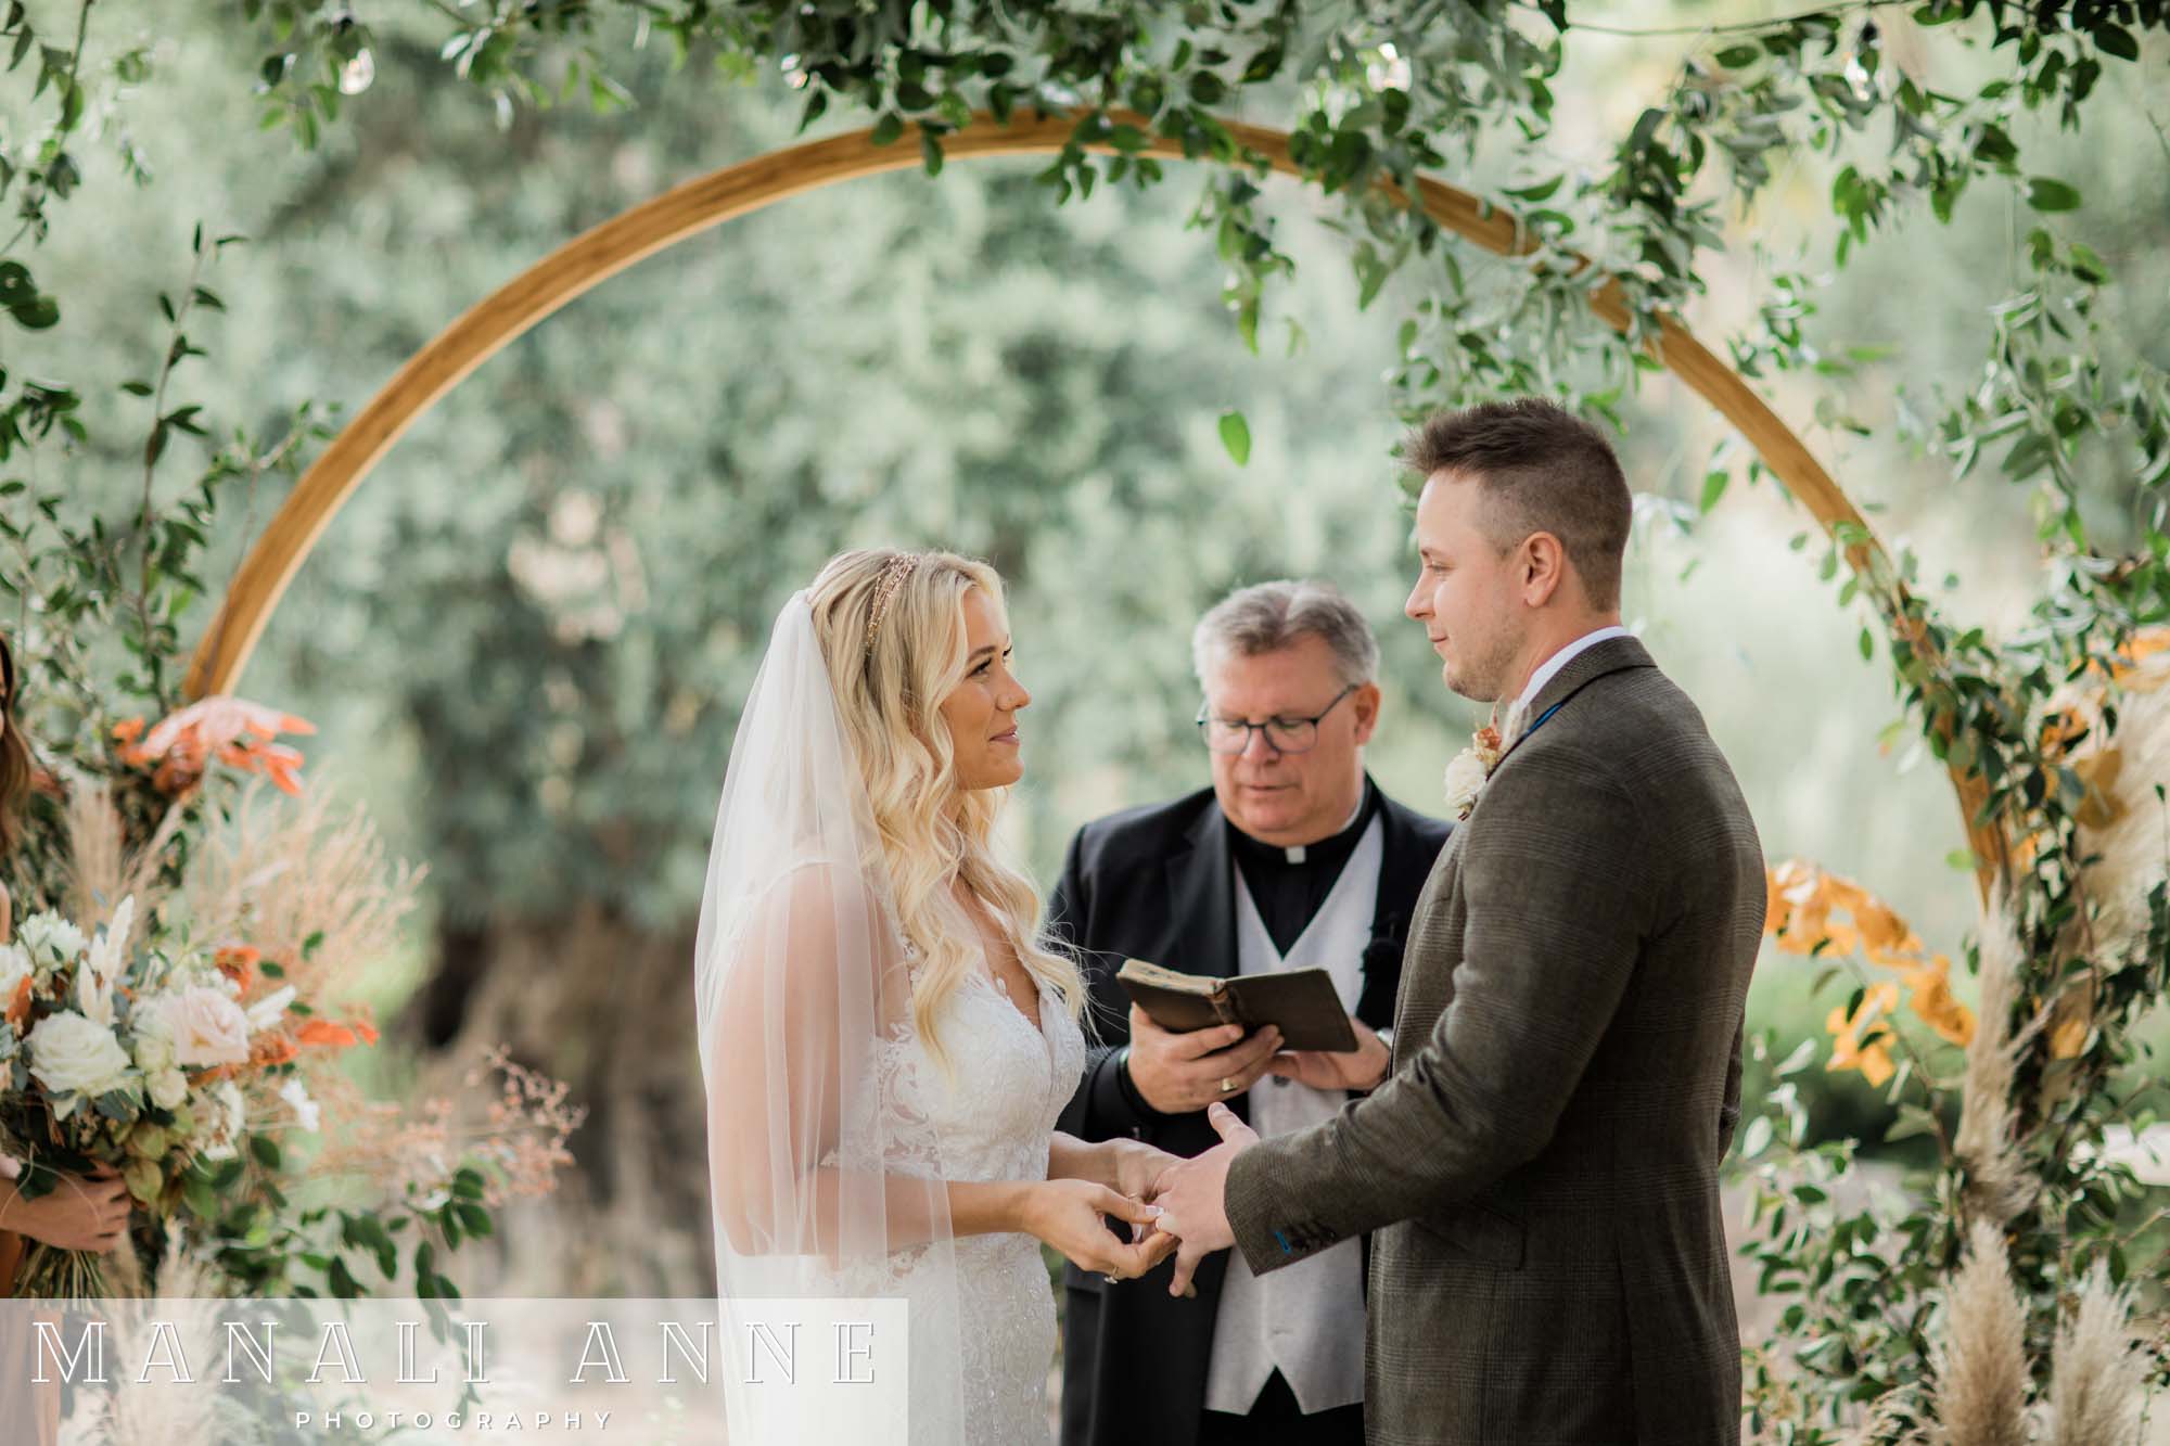
[[[1061,1129],[1176,1155],[1220,1140],[1213,1101],[1278,1136],[1384,1079],[1404,929],[1450,832],[1365,773],[1378,640],[1335,586],[1233,593],[1198,621],[1191,662],[1213,786],[1078,829],[1048,908],[1083,955],[1102,1040]],[[1170,1033],[1115,981],[1124,957],[1222,977],[1324,968],[1358,1049]],[[1267,1277],[1224,1251],[1180,1301],[1170,1266],[1126,1283],[1070,1266],[1063,1446],[1361,1444],[1365,1248]]]

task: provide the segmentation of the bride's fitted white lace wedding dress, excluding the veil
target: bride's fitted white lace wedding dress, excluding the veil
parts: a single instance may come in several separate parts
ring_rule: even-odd
[[[911,1133],[933,1142],[892,1151],[885,1166],[950,1181],[1046,1179],[1055,1120],[1085,1073],[1085,1036],[1061,997],[1039,986],[1035,1029],[981,962],[946,1001],[940,1029],[955,1083],[909,1025],[881,1044],[883,1107],[924,1122],[924,1136]],[[955,1259],[963,1439],[1046,1442],[1055,1292],[1039,1242],[968,1235],[955,1242]],[[907,1298],[920,1294],[909,1264],[898,1283]]]

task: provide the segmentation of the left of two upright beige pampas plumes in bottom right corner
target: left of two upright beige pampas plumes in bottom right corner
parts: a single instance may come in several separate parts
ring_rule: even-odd
[[[1975,1220],[1944,1298],[1936,1418],[1946,1446],[2027,1446],[2027,1322],[2003,1231]]]

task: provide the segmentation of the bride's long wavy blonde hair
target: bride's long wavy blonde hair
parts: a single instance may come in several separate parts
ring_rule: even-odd
[[[807,591],[844,738],[875,808],[898,923],[924,955],[911,1023],[944,1070],[948,1053],[935,1020],[979,949],[953,879],[987,908],[1026,973],[1055,986],[1070,1018],[1085,1010],[1076,960],[1039,938],[1039,890],[996,847],[994,825],[1009,790],[957,786],[942,701],[966,677],[963,599],[972,588],[1007,619],[1000,573],[948,551],[838,554]]]

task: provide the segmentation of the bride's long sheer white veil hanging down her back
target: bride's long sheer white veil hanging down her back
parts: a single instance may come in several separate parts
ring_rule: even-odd
[[[729,1437],[779,1439],[744,1390],[768,1298],[909,1301],[911,1439],[966,1437],[940,1125],[901,1090],[914,951],[807,593],[777,617],[725,773],[694,997]]]

